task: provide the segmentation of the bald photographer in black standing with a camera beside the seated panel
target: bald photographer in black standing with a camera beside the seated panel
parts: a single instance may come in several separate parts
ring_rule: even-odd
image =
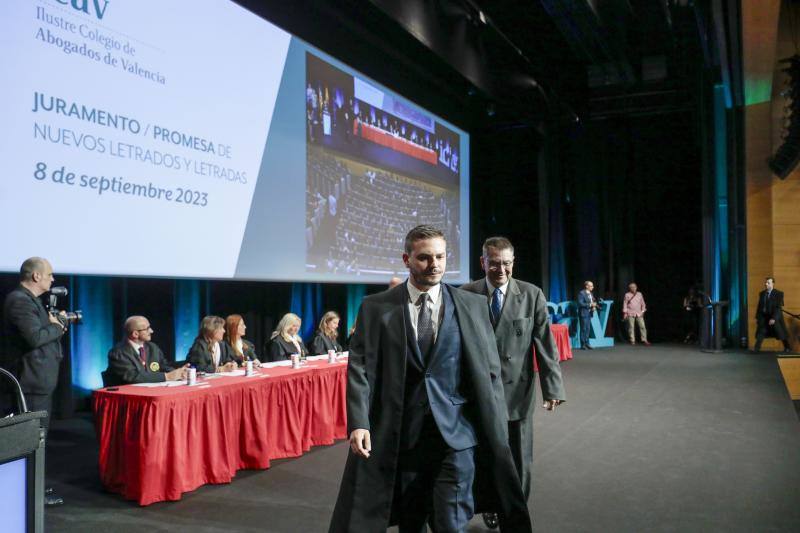
[[[49,313],[39,299],[55,282],[50,262],[31,257],[22,263],[19,274],[19,286],[8,293],[3,304],[6,364],[22,387],[28,409],[47,411],[48,416],[42,419],[46,442],[53,391],[64,358],[61,337],[67,326],[66,321],[61,322]],[[45,505],[64,503],[51,489],[45,491],[44,501]]]

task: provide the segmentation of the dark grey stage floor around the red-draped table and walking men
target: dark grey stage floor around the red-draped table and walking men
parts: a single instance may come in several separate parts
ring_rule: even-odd
[[[567,403],[537,408],[535,529],[798,531],[800,422],[775,357],[685,346],[575,351]],[[347,445],[239,472],[178,502],[106,493],[91,418],[54,421],[47,531],[326,531]],[[191,454],[191,450],[186,453]],[[470,531],[484,531],[476,517]]]

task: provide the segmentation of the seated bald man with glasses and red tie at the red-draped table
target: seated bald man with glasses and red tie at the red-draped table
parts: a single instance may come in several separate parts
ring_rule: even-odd
[[[106,386],[186,379],[187,366],[175,368],[153,342],[153,328],[143,316],[125,320],[125,339],[108,352]]]

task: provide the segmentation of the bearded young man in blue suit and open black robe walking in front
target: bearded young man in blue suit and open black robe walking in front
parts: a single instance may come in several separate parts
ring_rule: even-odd
[[[466,531],[476,506],[531,531],[486,302],[441,283],[446,257],[444,234],[417,226],[405,240],[408,281],[361,304],[331,532]]]

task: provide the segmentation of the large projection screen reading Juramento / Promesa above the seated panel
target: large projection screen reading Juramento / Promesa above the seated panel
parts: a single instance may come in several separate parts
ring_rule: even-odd
[[[1,271],[468,279],[466,132],[232,2],[3,4]]]

